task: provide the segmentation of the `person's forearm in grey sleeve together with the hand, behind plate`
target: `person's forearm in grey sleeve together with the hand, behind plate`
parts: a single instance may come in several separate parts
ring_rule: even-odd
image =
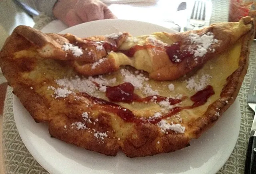
[[[116,16],[100,0],[20,0],[24,4],[54,16],[68,26]]]

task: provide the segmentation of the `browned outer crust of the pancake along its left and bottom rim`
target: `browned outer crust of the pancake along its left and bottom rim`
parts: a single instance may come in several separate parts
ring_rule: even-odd
[[[207,103],[206,110],[202,115],[184,119],[180,123],[186,127],[183,133],[168,130],[166,131],[167,134],[161,131],[158,124],[125,121],[118,116],[117,112],[111,112],[117,110],[119,106],[112,105],[105,99],[96,99],[86,93],[75,91],[64,98],[53,97],[54,93],[48,87],[57,88],[56,79],[64,76],[74,77],[79,72],[77,69],[78,72],[76,72],[72,67],[73,58],[68,57],[71,60],[65,59],[66,52],[60,49],[61,45],[64,42],[70,42],[70,40],[80,40],[80,38],[74,38],[69,34],[42,34],[40,31],[26,26],[17,27],[6,40],[0,52],[0,66],[8,84],[13,87],[14,94],[18,96],[34,120],[49,123],[49,132],[52,137],[110,156],[115,156],[120,148],[126,156],[131,158],[173,152],[189,146],[192,138],[198,138],[204,131],[213,126],[219,116],[234,102],[248,68],[248,50],[254,36],[252,19],[247,17],[243,19],[243,22],[251,24],[252,27],[246,34],[240,36],[238,68],[232,74],[227,75],[228,78],[224,86],[220,86],[220,96]],[[222,25],[228,28],[233,24]],[[214,26],[196,32],[214,30]],[[184,37],[188,33],[190,32],[174,34],[170,37],[174,38],[175,36],[179,40],[179,37]],[[128,36],[130,35],[125,33],[120,38],[122,41],[108,41],[119,47]],[[31,38],[34,39],[31,40]],[[106,40],[102,36],[90,39]],[[221,38],[218,39],[221,40]],[[230,40],[228,42],[231,42]],[[222,44],[226,46],[226,40],[221,42]],[[43,56],[43,50],[48,50],[47,55],[45,54],[47,58]],[[95,50],[92,52],[97,53],[97,56],[94,56],[93,59],[88,57],[86,61],[97,61],[102,58],[101,56],[106,55],[106,52],[98,53]],[[55,60],[56,55],[62,57]],[[104,66],[102,68],[104,69]],[[112,71],[118,69],[119,67]],[[102,72],[108,71],[103,70]],[[193,73],[197,73],[197,71],[195,70]],[[152,77],[154,74],[150,74],[150,76]],[[154,84],[160,83],[154,81]],[[124,108],[124,105],[121,104],[121,106]],[[133,113],[139,113],[136,109],[134,110]],[[87,122],[84,121],[85,118],[82,115],[85,112],[90,116],[88,118],[90,122],[88,119]],[[145,117],[152,116],[149,111],[144,112],[148,113]],[[139,114],[135,114],[135,116],[140,117]],[[78,128],[78,123],[82,123],[82,128]]]

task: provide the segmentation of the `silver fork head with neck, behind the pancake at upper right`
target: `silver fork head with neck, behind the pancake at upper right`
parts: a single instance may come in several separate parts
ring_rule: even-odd
[[[194,26],[193,30],[198,30],[205,24],[205,2],[196,0],[190,17],[190,25]]]

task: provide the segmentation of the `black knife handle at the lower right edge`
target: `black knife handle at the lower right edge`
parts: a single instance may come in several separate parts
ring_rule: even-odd
[[[248,142],[244,174],[256,174],[256,130],[252,130]]]

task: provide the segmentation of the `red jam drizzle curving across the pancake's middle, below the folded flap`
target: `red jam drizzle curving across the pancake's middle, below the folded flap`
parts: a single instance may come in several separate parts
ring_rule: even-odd
[[[121,93],[121,94],[124,94],[124,95],[128,96],[127,94],[125,94],[123,92],[126,91],[128,93],[129,92],[128,90],[134,91],[134,87],[132,88],[131,85],[132,84],[124,83],[124,84],[116,86],[116,89],[119,88],[117,90],[119,94]],[[125,88],[127,87],[128,90],[125,90],[123,88],[123,86]],[[111,89],[111,90],[114,89],[112,87],[108,87],[108,88]],[[107,88],[107,90],[108,90],[108,88]],[[110,92],[109,94],[106,94],[106,95],[110,95],[110,94],[112,94],[112,93]],[[134,96],[128,98],[129,99],[129,100],[127,99],[128,101],[131,101],[132,99],[134,99],[134,98],[136,99],[137,97],[139,97],[138,95],[134,94],[133,92],[132,93],[128,93],[128,94],[131,94],[131,96],[134,95]],[[196,108],[198,106],[201,106],[201,105],[205,104],[207,102],[208,98],[210,96],[214,95],[214,94],[215,94],[215,92],[214,92],[212,86],[208,85],[208,86],[206,86],[206,88],[196,92],[196,94],[194,94],[193,96],[190,97],[190,100],[192,100],[194,102],[194,104],[192,106],[177,106],[177,107],[172,108],[167,114],[164,114],[164,115],[162,115],[160,117],[157,117],[157,118],[148,118],[147,119],[147,118],[137,118],[132,113],[131,110],[126,109],[126,108],[124,108],[124,107],[122,107],[122,106],[120,106],[118,104],[114,104],[112,102],[108,102],[106,100],[90,96],[90,95],[88,95],[86,93],[82,93],[82,95],[84,95],[86,98],[90,98],[95,103],[100,104],[101,106],[103,106],[103,110],[105,110],[106,112],[114,113],[114,114],[118,115],[120,118],[122,118],[126,122],[134,122],[134,123],[148,123],[149,122],[149,123],[152,123],[152,124],[157,124],[162,119],[166,119],[168,117],[171,117],[174,114],[177,114],[178,112],[180,112],[181,110],[192,109],[192,108]],[[114,94],[114,95],[116,96],[116,94]],[[117,97],[117,98],[118,99],[116,99],[116,100],[120,100],[120,97]],[[159,98],[161,98],[161,96],[159,96]],[[152,99],[152,96],[150,96],[150,100],[151,99]],[[138,100],[144,100],[144,98],[139,98]],[[148,99],[146,99],[146,100],[148,100]],[[174,101],[178,102],[179,100],[175,100],[174,99]]]

